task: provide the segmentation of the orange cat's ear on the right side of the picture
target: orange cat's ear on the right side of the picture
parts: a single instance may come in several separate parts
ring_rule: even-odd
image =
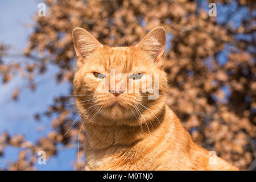
[[[135,47],[146,51],[159,67],[163,67],[163,53],[166,46],[166,30],[155,27]]]

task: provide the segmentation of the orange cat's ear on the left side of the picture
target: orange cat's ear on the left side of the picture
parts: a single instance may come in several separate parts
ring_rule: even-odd
[[[88,31],[84,30],[84,28],[75,28],[72,35],[77,55],[77,66],[81,67],[86,57],[90,53],[93,53],[96,48],[102,47],[103,45]]]

